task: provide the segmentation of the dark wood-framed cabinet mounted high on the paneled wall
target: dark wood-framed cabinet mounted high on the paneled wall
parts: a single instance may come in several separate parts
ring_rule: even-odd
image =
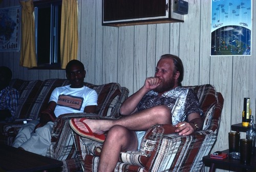
[[[102,25],[129,26],[184,22],[178,0],[102,0]]]

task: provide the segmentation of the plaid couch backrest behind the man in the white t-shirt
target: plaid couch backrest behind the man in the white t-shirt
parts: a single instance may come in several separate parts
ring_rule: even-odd
[[[16,118],[37,119],[40,112],[46,109],[52,91],[56,87],[62,87],[68,84],[70,82],[67,79],[47,79],[45,81],[12,79],[10,86],[17,89],[20,94],[15,113]],[[84,85],[94,89],[98,94],[96,114],[106,117],[119,117],[118,111],[121,102],[129,94],[127,88],[121,88],[118,83],[114,82],[102,85],[84,82]]]

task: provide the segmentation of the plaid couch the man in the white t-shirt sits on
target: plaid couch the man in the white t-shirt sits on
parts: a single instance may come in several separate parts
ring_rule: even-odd
[[[38,119],[40,112],[46,109],[52,91],[56,87],[68,84],[69,81],[67,79],[47,79],[44,81],[12,79],[10,86],[17,89],[20,94],[15,118]],[[68,125],[69,119],[74,116],[117,118],[119,117],[119,107],[129,94],[129,90],[125,87],[120,87],[118,83],[94,85],[84,82],[84,85],[94,89],[98,94],[98,105],[95,114],[63,114],[55,120],[52,128],[52,143],[48,149],[47,156],[63,161],[60,171],[77,171],[81,169],[72,138],[72,131]],[[0,143],[12,145],[19,128],[23,125],[23,120],[0,122]]]

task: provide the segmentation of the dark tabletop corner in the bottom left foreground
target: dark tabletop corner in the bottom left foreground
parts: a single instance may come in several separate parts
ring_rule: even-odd
[[[37,171],[61,167],[62,161],[0,144],[0,171]]]

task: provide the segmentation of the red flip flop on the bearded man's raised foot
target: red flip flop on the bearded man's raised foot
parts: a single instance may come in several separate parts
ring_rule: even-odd
[[[103,134],[102,135],[94,134],[92,132],[91,128],[86,123],[83,122],[86,119],[87,118],[81,118],[79,121],[82,122],[84,124],[84,126],[86,126],[89,133],[84,132],[80,128],[78,128],[75,124],[74,118],[69,120],[69,124],[70,124],[71,128],[74,130],[74,132],[76,132],[78,135],[103,143],[104,140],[105,140],[105,135],[103,135]]]

